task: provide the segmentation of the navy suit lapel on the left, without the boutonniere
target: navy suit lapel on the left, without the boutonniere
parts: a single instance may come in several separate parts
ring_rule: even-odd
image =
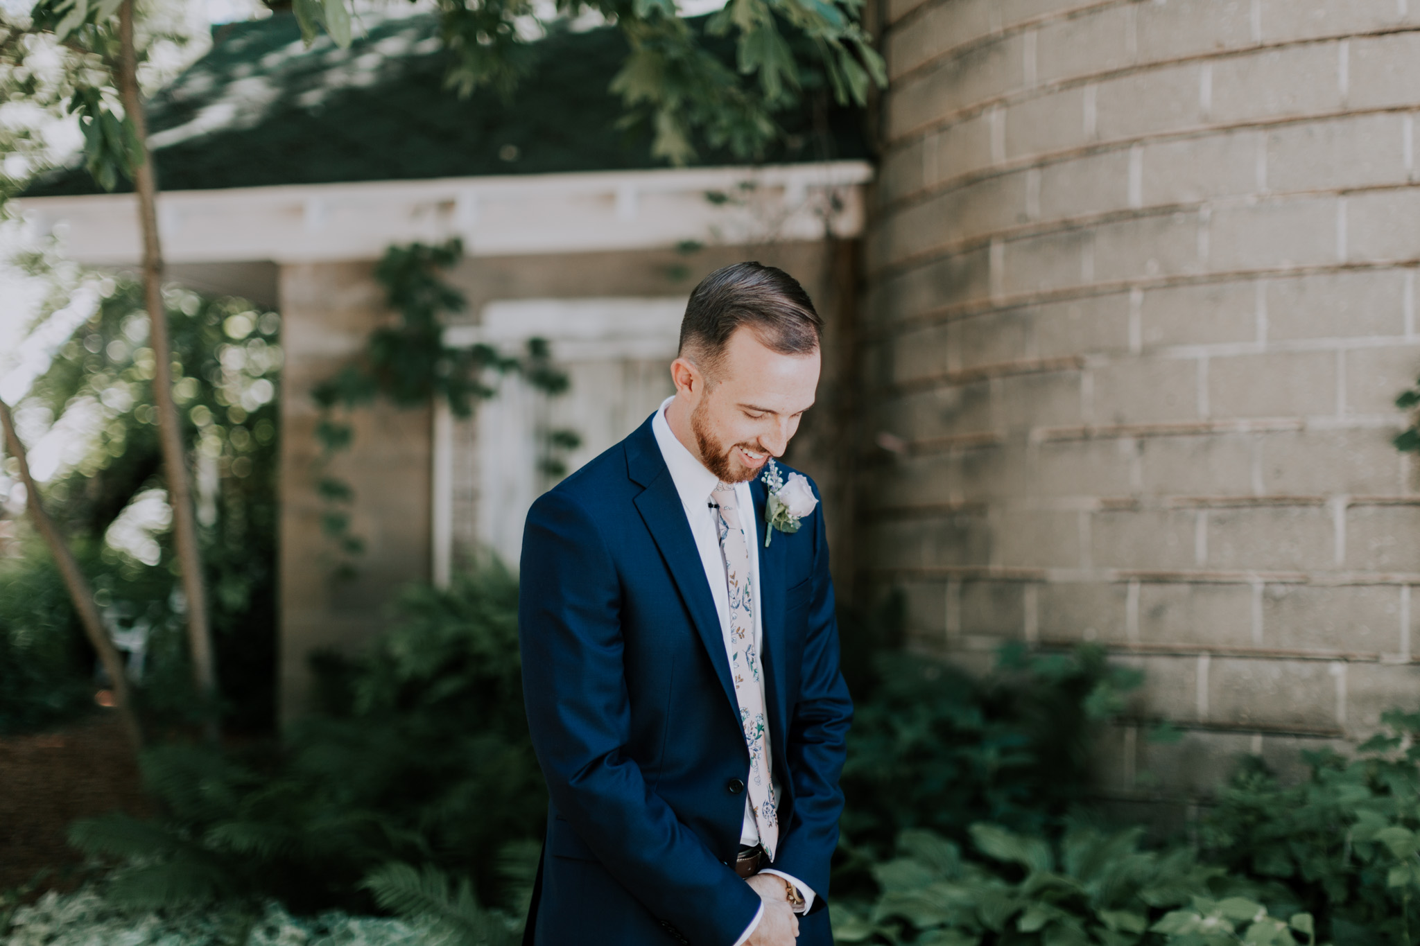
[[[660,455],[649,420],[626,441],[626,467],[630,478],[645,486],[632,502],[670,569],[676,590],[690,611],[690,620],[700,634],[716,677],[724,688],[726,699],[730,701],[730,708],[738,720],[740,702],[734,696],[730,658],[724,652],[724,633],[716,614],[714,597],[710,594],[706,570],[700,563],[700,550],[696,547],[694,536],[690,535],[690,523],[686,522],[686,509],[680,505],[680,494],[676,492],[676,484]]]

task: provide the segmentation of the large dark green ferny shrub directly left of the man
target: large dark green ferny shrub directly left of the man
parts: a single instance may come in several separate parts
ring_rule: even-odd
[[[515,581],[488,569],[447,591],[410,590],[390,631],[356,660],[327,657],[322,678],[324,711],[281,746],[148,752],[162,820],[74,827],[75,844],[122,864],[115,902],[275,898],[307,913],[368,912],[362,882],[392,862],[501,892],[487,854],[525,859],[547,813],[523,713]]]

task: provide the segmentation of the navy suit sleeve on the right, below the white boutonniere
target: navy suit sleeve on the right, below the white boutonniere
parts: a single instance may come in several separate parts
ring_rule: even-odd
[[[818,486],[814,486],[818,495]],[[794,783],[794,813],[780,835],[774,868],[814,889],[809,912],[828,902],[828,874],[838,847],[838,818],[843,793],[838,777],[846,756],[853,703],[838,667],[838,617],[834,580],[828,572],[828,538],[822,505],[814,516],[812,591],[798,701],[790,711],[788,757]]]

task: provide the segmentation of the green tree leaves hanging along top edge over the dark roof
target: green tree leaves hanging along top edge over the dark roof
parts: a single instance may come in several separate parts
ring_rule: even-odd
[[[31,30],[70,48],[112,60],[119,0],[37,0]],[[628,43],[609,89],[626,115],[646,125],[652,155],[674,165],[696,157],[697,142],[736,157],[763,157],[780,135],[775,115],[824,89],[839,105],[866,105],[886,85],[882,57],[861,18],[863,0],[730,0],[703,26],[674,0],[436,0],[440,37],[452,54],[447,85],[460,95],[491,88],[517,94],[535,65],[532,43],[568,21],[615,24]],[[325,31],[341,47],[355,35],[352,0],[294,0],[307,43]],[[733,57],[723,55],[726,45]],[[142,160],[132,116],[111,101],[112,75],[75,82],[67,108],[80,119],[85,163],[112,190]]]

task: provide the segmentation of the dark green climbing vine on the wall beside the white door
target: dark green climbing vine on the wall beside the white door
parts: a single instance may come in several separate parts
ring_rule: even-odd
[[[364,540],[351,532],[355,491],[329,471],[332,458],[348,450],[354,440],[351,411],[376,397],[385,397],[398,407],[422,407],[442,399],[454,417],[464,418],[477,401],[497,394],[488,383],[490,372],[521,374],[550,397],[564,394],[569,387],[567,373],[552,363],[545,339],[528,339],[527,349],[517,356],[483,343],[446,343],[446,318],[463,312],[467,299],[442,274],[462,257],[463,243],[457,238],[439,245],[413,243],[389,247],[375,267],[375,279],[383,286],[386,305],[399,319],[375,329],[361,355],[312,391],[321,410],[315,425],[321,444],[315,489],[324,503],[321,529],[337,549],[338,576],[351,576],[355,560],[365,550]],[[565,475],[565,454],[581,445],[581,437],[572,430],[544,430],[540,438],[541,472]]]

